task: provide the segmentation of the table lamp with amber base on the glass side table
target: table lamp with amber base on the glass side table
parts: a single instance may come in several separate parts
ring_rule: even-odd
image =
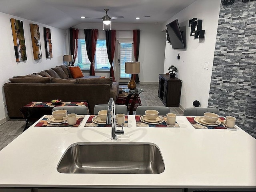
[[[125,62],[125,73],[132,74],[131,79],[127,85],[128,89],[135,90],[137,85],[133,78],[133,74],[140,73],[140,62]]]

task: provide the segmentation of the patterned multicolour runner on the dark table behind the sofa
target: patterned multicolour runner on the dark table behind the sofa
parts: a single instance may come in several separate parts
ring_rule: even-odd
[[[55,107],[55,106],[87,106],[87,102],[62,102],[59,105],[53,105],[51,102],[35,102],[32,101],[29,104],[26,104],[24,107]]]

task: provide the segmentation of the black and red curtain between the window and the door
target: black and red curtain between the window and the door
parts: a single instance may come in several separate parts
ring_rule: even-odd
[[[108,60],[110,63],[110,77],[113,78],[113,82],[116,81],[113,68],[113,59],[116,46],[116,30],[106,30],[106,46],[108,53]]]

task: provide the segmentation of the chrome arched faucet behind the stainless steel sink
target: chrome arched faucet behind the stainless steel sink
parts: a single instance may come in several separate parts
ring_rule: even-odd
[[[124,134],[123,124],[122,124],[122,130],[116,130],[116,108],[115,108],[115,102],[113,98],[110,98],[108,101],[106,125],[111,125],[112,140],[117,140],[117,135]]]

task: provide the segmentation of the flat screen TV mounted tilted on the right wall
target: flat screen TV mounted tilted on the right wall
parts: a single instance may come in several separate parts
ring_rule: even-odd
[[[182,38],[182,32],[180,31],[180,25],[178,19],[170,22],[166,25],[170,42],[173,49],[185,49],[185,44]]]

